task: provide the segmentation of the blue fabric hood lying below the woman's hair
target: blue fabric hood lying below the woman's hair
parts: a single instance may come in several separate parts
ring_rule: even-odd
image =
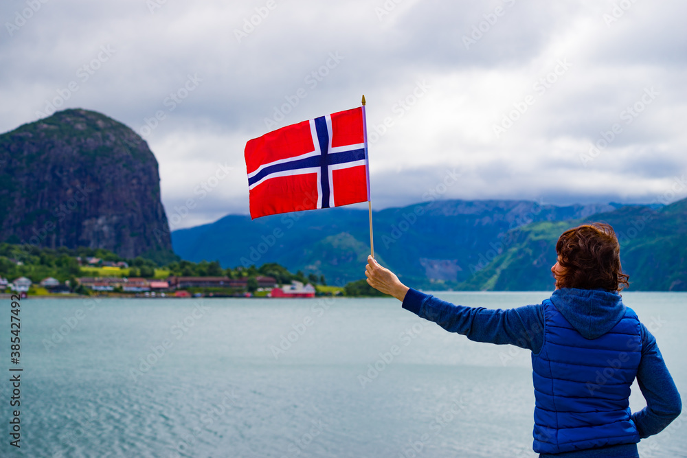
[[[585,339],[606,334],[625,313],[620,295],[605,290],[561,288],[550,300]]]

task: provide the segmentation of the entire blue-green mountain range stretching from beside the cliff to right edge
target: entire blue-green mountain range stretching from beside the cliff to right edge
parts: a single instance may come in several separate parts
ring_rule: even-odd
[[[550,267],[565,229],[609,222],[633,290],[687,289],[687,200],[666,207],[556,207],[528,201],[442,201],[374,213],[377,260],[425,289],[552,290]],[[174,250],[223,266],[278,262],[324,275],[330,284],[362,279],[370,253],[368,212],[304,211],[250,220],[229,215],[172,233]]]

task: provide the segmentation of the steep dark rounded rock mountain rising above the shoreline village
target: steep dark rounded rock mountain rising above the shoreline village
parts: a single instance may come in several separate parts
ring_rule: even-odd
[[[0,135],[0,241],[173,257],[157,161],[133,130],[65,110]]]

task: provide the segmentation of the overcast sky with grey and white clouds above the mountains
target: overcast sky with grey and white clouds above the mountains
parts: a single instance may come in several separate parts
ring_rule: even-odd
[[[168,217],[194,207],[172,229],[247,214],[246,141],[363,93],[376,209],[430,190],[687,196],[684,1],[25,0],[0,17],[0,131],[74,107],[123,122]]]

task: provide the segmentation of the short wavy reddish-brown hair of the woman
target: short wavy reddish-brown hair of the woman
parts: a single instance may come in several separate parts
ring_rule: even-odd
[[[620,244],[611,225],[593,222],[568,229],[556,242],[559,264],[565,269],[559,288],[620,291],[629,286],[622,273]]]

